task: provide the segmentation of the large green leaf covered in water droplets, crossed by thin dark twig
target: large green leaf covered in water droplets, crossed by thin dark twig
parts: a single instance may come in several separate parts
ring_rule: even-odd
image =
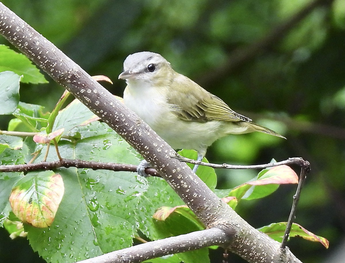
[[[61,140],[59,152],[63,158],[140,162],[138,154],[106,124],[92,122],[83,127],[98,134],[73,143]],[[56,152],[49,151],[47,160],[56,159]],[[57,171],[65,183],[65,194],[49,228],[24,226],[32,248],[48,262],[75,262],[131,246],[138,214],[146,217],[145,203],[139,206],[139,201],[148,188],[147,180],[123,171]]]

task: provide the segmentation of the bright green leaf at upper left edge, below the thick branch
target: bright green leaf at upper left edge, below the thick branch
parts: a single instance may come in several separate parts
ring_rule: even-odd
[[[23,83],[48,83],[44,75],[32,62],[23,54],[9,49],[6,45],[0,45],[0,72],[13,71],[23,75]]]

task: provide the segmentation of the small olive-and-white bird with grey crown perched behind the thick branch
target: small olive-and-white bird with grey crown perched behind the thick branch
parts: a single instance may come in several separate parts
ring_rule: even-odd
[[[124,62],[125,105],[174,149],[194,149],[201,160],[207,147],[228,134],[253,131],[283,137],[234,112],[220,98],[175,72],[161,55],[139,52]],[[141,171],[147,167],[141,165]],[[197,166],[194,166],[195,172]],[[141,172],[139,172],[141,173]]]

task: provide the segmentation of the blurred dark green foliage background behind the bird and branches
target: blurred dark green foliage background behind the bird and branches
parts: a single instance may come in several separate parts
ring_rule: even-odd
[[[173,68],[287,140],[253,133],[210,147],[209,161],[261,164],[303,157],[311,163],[295,222],[330,241],[292,239],[303,262],[344,262],[345,246],[345,0],[5,0],[2,1],[90,75],[122,96],[117,80],[127,55],[160,53]],[[0,37],[1,44],[8,44]],[[48,79],[48,78],[47,78]],[[21,101],[51,111],[63,88],[21,85]],[[145,98],[143,98],[145,99]],[[0,116],[7,129],[10,116]],[[218,188],[257,171],[217,170]],[[296,172],[299,172],[296,168]],[[286,221],[296,186],[242,202],[254,227]],[[302,249],[303,248],[303,249]],[[211,252],[221,262],[223,251]],[[0,229],[0,262],[43,262],[26,240]],[[245,262],[230,254],[229,262]]]

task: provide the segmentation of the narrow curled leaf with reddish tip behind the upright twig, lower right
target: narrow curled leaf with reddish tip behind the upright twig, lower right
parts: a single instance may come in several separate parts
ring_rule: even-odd
[[[286,222],[280,222],[280,223],[272,223],[269,225],[266,225],[265,227],[259,228],[258,230],[266,233],[269,235],[272,239],[282,242],[283,236],[285,233],[286,229]],[[309,241],[314,241],[314,242],[320,242],[325,248],[328,248],[329,246],[329,241],[322,236],[315,235],[314,233],[306,230],[304,227],[302,227],[299,224],[293,223],[289,237],[295,237],[299,236],[303,239],[309,240]]]

